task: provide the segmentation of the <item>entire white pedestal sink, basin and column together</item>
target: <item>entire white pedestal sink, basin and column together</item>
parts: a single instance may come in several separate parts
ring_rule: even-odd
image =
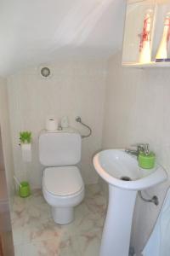
[[[96,154],[94,167],[109,183],[109,206],[99,256],[128,256],[137,191],[165,181],[167,173],[159,165],[141,169],[135,157],[119,149]]]

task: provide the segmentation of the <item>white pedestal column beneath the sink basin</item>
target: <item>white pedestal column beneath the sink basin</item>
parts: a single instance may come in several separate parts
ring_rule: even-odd
[[[109,184],[109,206],[99,256],[128,256],[137,191]]]

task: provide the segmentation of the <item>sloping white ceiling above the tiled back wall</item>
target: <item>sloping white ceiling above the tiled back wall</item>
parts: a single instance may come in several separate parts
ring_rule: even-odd
[[[126,0],[0,0],[0,75],[57,58],[113,55]]]

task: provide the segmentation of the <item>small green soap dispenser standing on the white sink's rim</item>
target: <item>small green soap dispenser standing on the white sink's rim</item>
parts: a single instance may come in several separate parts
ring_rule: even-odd
[[[139,153],[139,167],[143,169],[152,169],[155,166],[156,154],[150,152],[149,145],[146,144],[144,152]]]

